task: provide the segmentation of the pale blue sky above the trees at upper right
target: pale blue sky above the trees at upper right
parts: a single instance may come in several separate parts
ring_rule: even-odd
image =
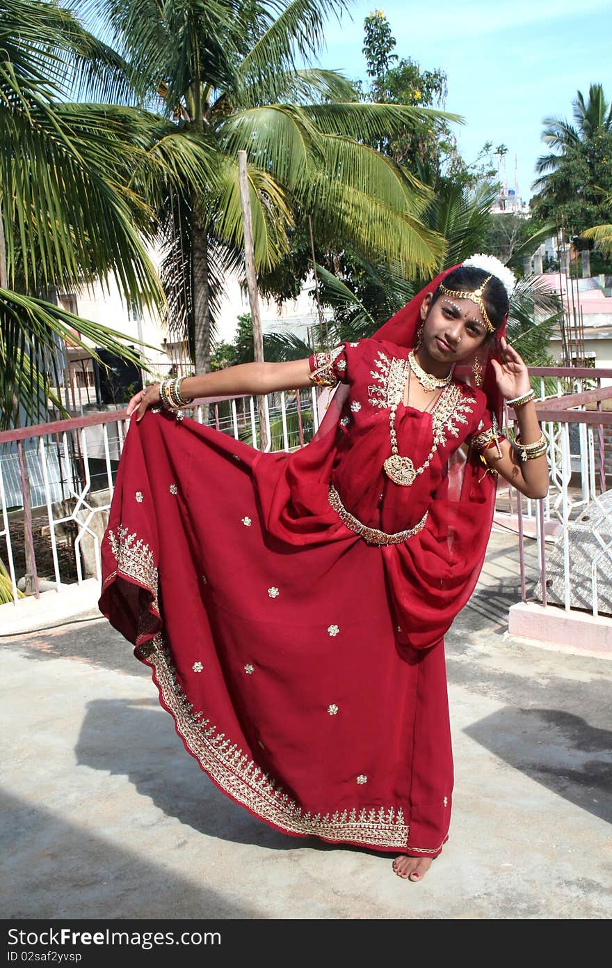
[[[465,121],[453,126],[465,159],[473,161],[485,141],[507,145],[509,187],[516,156],[524,198],[532,194],[536,159],[545,151],[542,118],[571,121],[576,91],[586,98],[594,82],[612,98],[611,0],[438,0],[430,8],[410,0],[378,7],[357,0],[340,24],[329,19],[322,66],[366,79],[364,17],[375,9],[391,24],[394,53],[447,73],[447,110]]]

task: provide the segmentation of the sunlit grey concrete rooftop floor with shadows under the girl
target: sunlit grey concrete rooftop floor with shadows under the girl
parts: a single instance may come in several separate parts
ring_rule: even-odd
[[[515,546],[494,532],[447,636],[451,839],[420,884],[223,797],[91,600],[3,636],[0,917],[608,918],[612,664],[510,639]]]

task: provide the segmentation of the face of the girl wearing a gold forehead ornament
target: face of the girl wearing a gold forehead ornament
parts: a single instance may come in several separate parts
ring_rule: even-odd
[[[450,365],[469,359],[488,335],[481,311],[471,299],[439,295],[431,303],[431,294],[423,299],[424,320],[422,348],[434,360]]]

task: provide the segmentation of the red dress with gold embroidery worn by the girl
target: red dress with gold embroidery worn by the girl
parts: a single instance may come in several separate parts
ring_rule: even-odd
[[[286,833],[435,857],[452,803],[443,635],[476,580],[449,551],[449,459],[490,417],[459,381],[433,413],[400,403],[399,454],[423,470],[394,484],[406,357],[336,348],[335,439],[290,455],[165,412],[132,421],[100,607],[223,793]],[[366,529],[413,533],[372,543],[337,499]]]

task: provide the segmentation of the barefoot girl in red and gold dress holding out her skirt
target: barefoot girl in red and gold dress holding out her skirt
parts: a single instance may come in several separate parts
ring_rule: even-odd
[[[444,635],[481,571],[496,474],[547,490],[504,337],[510,276],[473,257],[371,339],[140,391],[103,542],[102,613],[219,789],[282,832],[392,853],[412,881],[448,839]],[[179,409],[312,382],[339,385],[291,454]]]

